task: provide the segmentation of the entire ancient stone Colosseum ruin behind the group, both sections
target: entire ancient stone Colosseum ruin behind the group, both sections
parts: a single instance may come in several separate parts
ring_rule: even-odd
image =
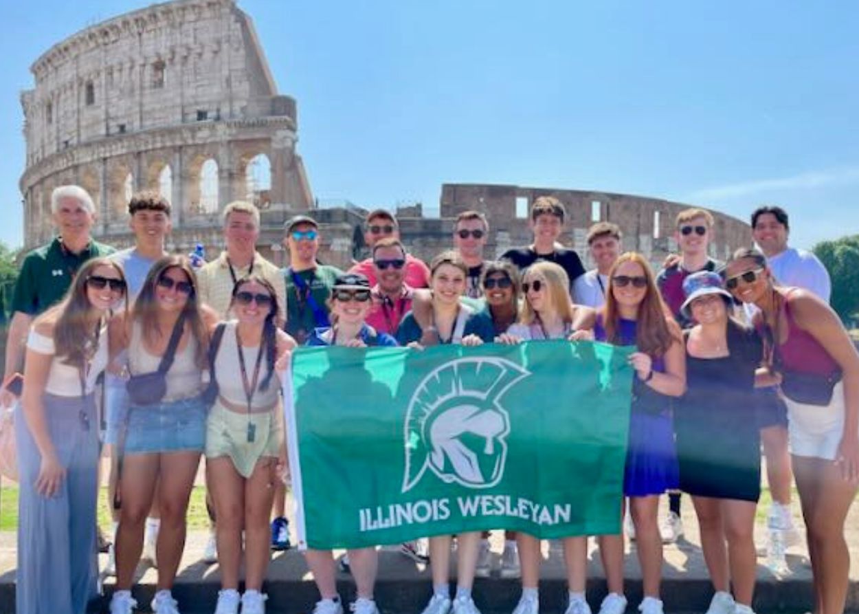
[[[346,267],[366,253],[366,209],[314,200],[295,149],[295,100],[277,93],[253,22],[235,0],[175,0],[119,15],[52,46],[31,71],[35,87],[21,95],[27,248],[52,236],[52,189],[77,183],[98,207],[94,234],[119,247],[132,241],[129,197],[146,187],[173,203],[168,247],[176,251],[203,243],[216,253],[219,211],[242,199],[261,209],[259,251],[277,264],[286,261],[283,222],[296,212],[319,219],[321,260]],[[585,236],[597,220],[620,225],[625,249],[661,262],[676,249],[673,219],[687,206],[618,193],[446,184],[439,218],[424,217],[420,205],[397,215],[405,243],[429,260],[450,246],[457,213],[486,212],[488,254],[495,255],[530,242],[527,211],[543,194],[567,206],[564,243],[588,264]],[[713,255],[751,243],[746,224],[715,214]]]

